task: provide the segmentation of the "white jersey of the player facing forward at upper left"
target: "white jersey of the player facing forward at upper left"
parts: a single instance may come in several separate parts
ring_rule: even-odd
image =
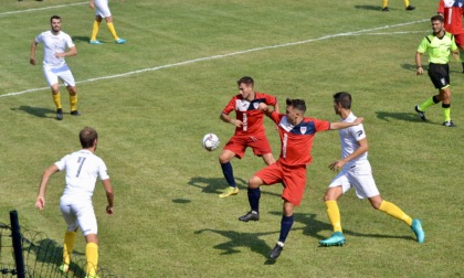
[[[64,57],[59,58],[55,54],[64,53],[66,52],[66,47],[71,49],[74,46],[71,36],[63,31],[60,31],[56,35],[50,30],[42,32],[35,38],[35,42],[44,44],[43,65],[53,67],[60,67],[66,64]]]

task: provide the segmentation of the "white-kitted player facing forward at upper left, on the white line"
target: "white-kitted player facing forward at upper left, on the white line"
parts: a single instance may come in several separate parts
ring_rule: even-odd
[[[39,43],[44,44],[43,73],[52,89],[53,101],[56,106],[56,119],[63,119],[63,109],[61,106],[60,84],[61,78],[70,93],[71,115],[80,116],[77,111],[77,89],[73,73],[66,64],[64,57],[77,54],[71,36],[61,31],[61,18],[53,15],[50,19],[52,30],[40,33],[31,44],[31,56],[29,62],[36,65],[35,50]],[[66,52],[66,47],[68,51]]]

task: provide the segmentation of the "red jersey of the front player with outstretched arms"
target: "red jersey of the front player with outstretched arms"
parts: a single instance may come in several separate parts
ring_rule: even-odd
[[[293,126],[285,114],[271,114],[272,120],[278,126],[281,136],[281,157],[278,161],[284,165],[307,165],[313,160],[314,135],[330,129],[330,122],[304,117],[302,122]]]

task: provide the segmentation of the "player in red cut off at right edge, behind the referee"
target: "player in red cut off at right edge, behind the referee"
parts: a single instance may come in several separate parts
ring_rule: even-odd
[[[454,35],[464,73],[464,0],[440,0],[437,13],[444,18],[446,32]]]

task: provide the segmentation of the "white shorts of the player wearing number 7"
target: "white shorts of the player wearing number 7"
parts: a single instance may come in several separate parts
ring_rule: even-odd
[[[91,234],[96,235],[98,228],[92,200],[71,202],[70,199],[71,197],[63,196],[60,200],[60,210],[66,222],[67,231],[74,232],[80,227],[84,236]]]

